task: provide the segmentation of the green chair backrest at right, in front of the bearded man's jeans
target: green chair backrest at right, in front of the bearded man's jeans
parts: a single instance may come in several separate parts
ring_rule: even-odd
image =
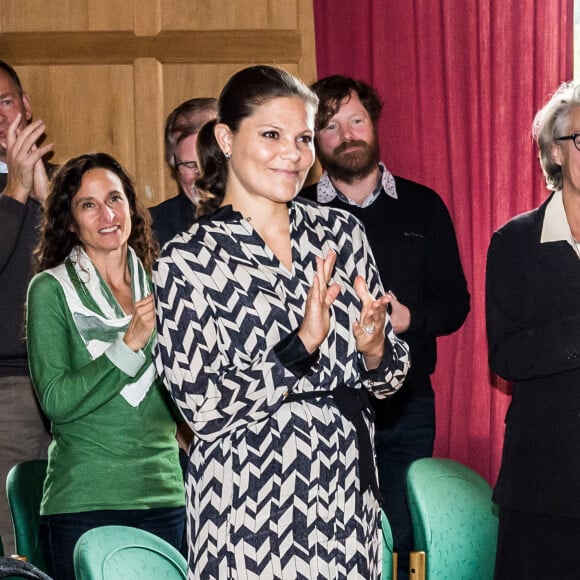
[[[414,461],[407,498],[415,550],[426,553],[426,577],[491,580],[498,519],[491,487],[450,459]]]

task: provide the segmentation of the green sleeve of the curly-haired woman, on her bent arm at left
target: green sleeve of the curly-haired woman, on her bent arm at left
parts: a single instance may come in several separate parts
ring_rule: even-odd
[[[84,346],[64,292],[50,274],[38,274],[30,283],[26,334],[32,381],[46,416],[55,423],[75,421],[90,414],[132,380],[132,374],[121,370],[107,356],[108,351],[94,360],[87,352],[86,361],[78,364],[82,357],[76,349]],[[113,358],[121,356],[123,345],[113,343],[110,348],[115,351]],[[147,360],[151,361],[150,351],[140,360],[138,366],[142,369]],[[123,366],[128,370],[134,363],[134,359],[126,360]]]

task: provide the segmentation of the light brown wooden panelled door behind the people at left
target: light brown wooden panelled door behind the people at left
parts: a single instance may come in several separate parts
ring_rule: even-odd
[[[0,59],[45,121],[53,162],[110,153],[151,206],[176,193],[163,127],[179,103],[217,97],[250,64],[316,79],[312,0],[0,0]]]

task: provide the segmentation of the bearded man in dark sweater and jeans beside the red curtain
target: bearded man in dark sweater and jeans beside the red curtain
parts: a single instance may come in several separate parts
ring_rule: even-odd
[[[363,222],[385,290],[395,298],[393,328],[411,349],[403,388],[387,400],[373,401],[379,486],[403,579],[413,549],[406,470],[413,460],[433,453],[430,375],[437,360],[436,337],[463,324],[470,297],[445,204],[431,189],[391,175],[380,162],[382,103],[374,89],[338,75],[312,88],[320,98],[315,142],[325,172],[301,195],[343,208]]]

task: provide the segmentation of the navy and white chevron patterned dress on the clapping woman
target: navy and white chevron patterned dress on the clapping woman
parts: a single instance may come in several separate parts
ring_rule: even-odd
[[[174,238],[155,265],[156,364],[195,433],[190,579],[380,578],[379,503],[360,489],[353,423],[332,396],[285,399],[339,385],[392,394],[408,349],[387,323],[388,362],[363,384],[353,280],[361,274],[373,295],[383,290],[362,226],[309,202],[289,212],[292,271],[231,206]],[[314,364],[296,374],[275,347],[299,328],[315,256],[329,250],[342,290]]]

